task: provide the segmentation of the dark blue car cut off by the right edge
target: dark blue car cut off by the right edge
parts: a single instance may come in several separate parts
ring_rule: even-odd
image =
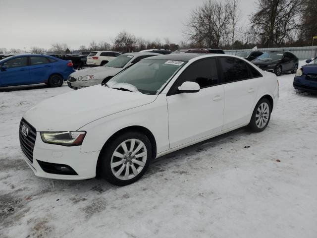
[[[317,93],[317,58],[297,70],[293,86],[295,89]]]

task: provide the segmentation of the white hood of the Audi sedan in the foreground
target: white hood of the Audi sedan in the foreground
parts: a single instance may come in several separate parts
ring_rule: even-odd
[[[23,116],[37,131],[75,131],[94,120],[153,102],[157,95],[96,85],[47,99]]]

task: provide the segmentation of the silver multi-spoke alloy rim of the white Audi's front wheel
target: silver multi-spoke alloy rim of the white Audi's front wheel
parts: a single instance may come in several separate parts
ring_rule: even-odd
[[[111,156],[112,174],[121,180],[133,179],[141,173],[147,158],[147,148],[141,140],[125,140],[117,146]]]

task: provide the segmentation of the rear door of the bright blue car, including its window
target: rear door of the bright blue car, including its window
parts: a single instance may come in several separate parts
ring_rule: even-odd
[[[52,72],[53,63],[44,56],[30,56],[31,83],[42,83],[47,80]]]

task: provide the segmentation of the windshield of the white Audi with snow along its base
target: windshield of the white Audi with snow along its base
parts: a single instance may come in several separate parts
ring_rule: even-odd
[[[176,60],[141,60],[111,78],[106,85],[109,88],[155,95],[185,63]],[[130,87],[126,87],[127,84]]]

